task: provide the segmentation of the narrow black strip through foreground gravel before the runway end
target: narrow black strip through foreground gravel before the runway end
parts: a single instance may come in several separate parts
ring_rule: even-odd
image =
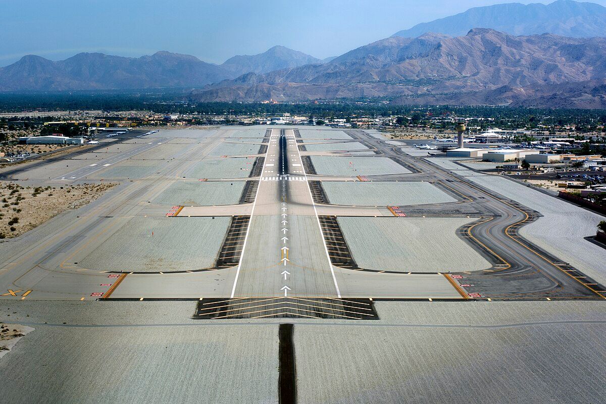
[[[297,401],[294,331],[293,324],[280,324],[278,328],[280,343],[278,399],[280,404],[295,404]]]

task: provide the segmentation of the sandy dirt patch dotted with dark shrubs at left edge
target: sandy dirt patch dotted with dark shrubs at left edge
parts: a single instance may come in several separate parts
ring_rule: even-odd
[[[116,184],[22,187],[0,184],[0,241],[19,236],[67,209],[89,204]]]

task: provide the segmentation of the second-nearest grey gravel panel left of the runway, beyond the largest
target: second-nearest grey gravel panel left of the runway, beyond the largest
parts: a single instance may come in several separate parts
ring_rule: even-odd
[[[227,185],[224,182],[175,182],[151,202],[160,205],[229,205],[237,204],[244,181]]]

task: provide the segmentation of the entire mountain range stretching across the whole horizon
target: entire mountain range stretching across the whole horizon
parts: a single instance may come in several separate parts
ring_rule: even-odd
[[[221,65],[166,51],[141,58],[81,53],[57,62],[30,55],[0,68],[0,91],[172,87],[189,89],[182,99],[190,101],[384,97],[606,108],[605,11],[563,0],[472,8],[324,60],[280,46]],[[459,35],[464,22],[477,25]]]

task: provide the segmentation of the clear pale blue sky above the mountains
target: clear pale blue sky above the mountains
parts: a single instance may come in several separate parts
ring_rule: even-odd
[[[220,64],[273,45],[326,58],[419,22],[501,2],[507,1],[0,0],[0,66],[28,54],[58,60],[83,51],[158,50]]]

